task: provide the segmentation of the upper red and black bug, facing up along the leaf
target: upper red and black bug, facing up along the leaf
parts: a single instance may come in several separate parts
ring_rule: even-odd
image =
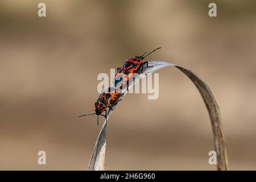
[[[161,47],[154,49],[154,51],[151,51],[146,56],[144,56],[146,54],[146,52],[144,52],[142,56],[135,56],[125,60],[125,64],[123,64],[121,68],[117,68],[117,74],[114,77],[115,88],[122,88],[123,84],[127,84],[128,90],[129,79],[133,77],[135,73],[142,73],[144,65],[148,68],[148,62],[142,62],[142,60],[160,48]]]

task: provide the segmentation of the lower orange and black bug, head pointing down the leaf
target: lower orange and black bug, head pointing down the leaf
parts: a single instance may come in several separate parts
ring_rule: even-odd
[[[83,114],[79,117],[86,116],[86,115],[102,115],[107,119],[107,109],[113,110],[114,106],[117,105],[117,102],[121,101],[120,97],[122,94],[119,94],[115,92],[114,88],[108,88],[107,90],[102,91],[100,96],[98,97],[98,100],[94,102],[95,107],[95,113],[93,114]],[[101,114],[103,112],[106,112],[105,115]],[[97,117],[97,123],[98,123],[98,117]]]

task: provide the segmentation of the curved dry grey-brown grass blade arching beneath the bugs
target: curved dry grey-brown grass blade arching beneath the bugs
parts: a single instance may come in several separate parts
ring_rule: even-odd
[[[139,79],[146,77],[146,74],[151,74],[157,71],[158,69],[162,69],[168,66],[174,66],[178,68],[181,72],[187,75],[190,80],[196,85],[199,90],[201,96],[203,97],[205,106],[207,106],[207,110],[210,117],[210,122],[212,124],[213,130],[213,140],[214,140],[214,149],[217,154],[217,169],[218,170],[228,170],[228,156],[226,153],[226,144],[223,135],[222,123],[220,111],[218,109],[218,105],[216,100],[213,97],[210,88],[201,78],[199,78],[195,73],[180,67],[178,65],[174,65],[171,63],[167,63],[164,61],[150,61],[148,62],[148,66],[144,67],[143,73],[135,78],[134,84],[139,81]],[[130,87],[133,85],[130,85]],[[123,94],[124,97],[127,94],[127,91]],[[113,110],[108,110],[108,117],[112,113]],[[105,120],[102,125],[100,134],[98,135],[97,142],[94,146],[92,157],[90,158],[89,168],[88,170],[104,170],[105,169],[105,152],[106,152],[106,129],[107,129],[107,121]]]

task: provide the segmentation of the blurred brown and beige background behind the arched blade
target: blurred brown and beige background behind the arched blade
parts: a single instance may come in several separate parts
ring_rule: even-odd
[[[38,17],[38,3],[47,6]],[[208,16],[217,3],[217,18]],[[0,0],[0,169],[86,170],[100,126],[97,75],[163,48],[197,73],[220,106],[229,168],[256,169],[255,1]],[[159,98],[128,94],[109,119],[106,169],[215,170],[204,102],[175,68]],[[101,124],[103,118],[100,119]],[[47,165],[38,165],[38,151]]]

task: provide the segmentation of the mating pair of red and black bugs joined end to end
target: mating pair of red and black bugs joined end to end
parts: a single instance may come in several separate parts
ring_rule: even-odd
[[[146,65],[146,68],[148,67],[148,62],[142,60],[150,55],[152,52],[155,52],[157,49],[154,49],[154,51],[151,51],[146,55],[146,52],[142,56],[135,56],[131,57],[127,60],[125,60],[125,64],[121,68],[117,68],[117,74],[114,77],[114,88],[108,88],[107,90],[104,90],[101,92],[100,96],[98,97],[98,100],[94,102],[95,107],[95,113],[92,114],[83,114],[79,117],[86,116],[86,115],[94,115],[96,114],[98,117],[100,115],[104,116],[107,120],[108,116],[108,108],[110,110],[113,110],[114,107],[117,105],[119,101],[121,101],[121,96],[123,95],[122,92],[117,92],[117,88],[122,88],[122,85],[129,85],[129,79],[133,77],[135,73],[141,74],[143,73],[143,67]],[[127,86],[128,90],[128,86]],[[102,113],[105,111],[105,115]],[[98,117],[97,117],[97,123],[98,123]]]

